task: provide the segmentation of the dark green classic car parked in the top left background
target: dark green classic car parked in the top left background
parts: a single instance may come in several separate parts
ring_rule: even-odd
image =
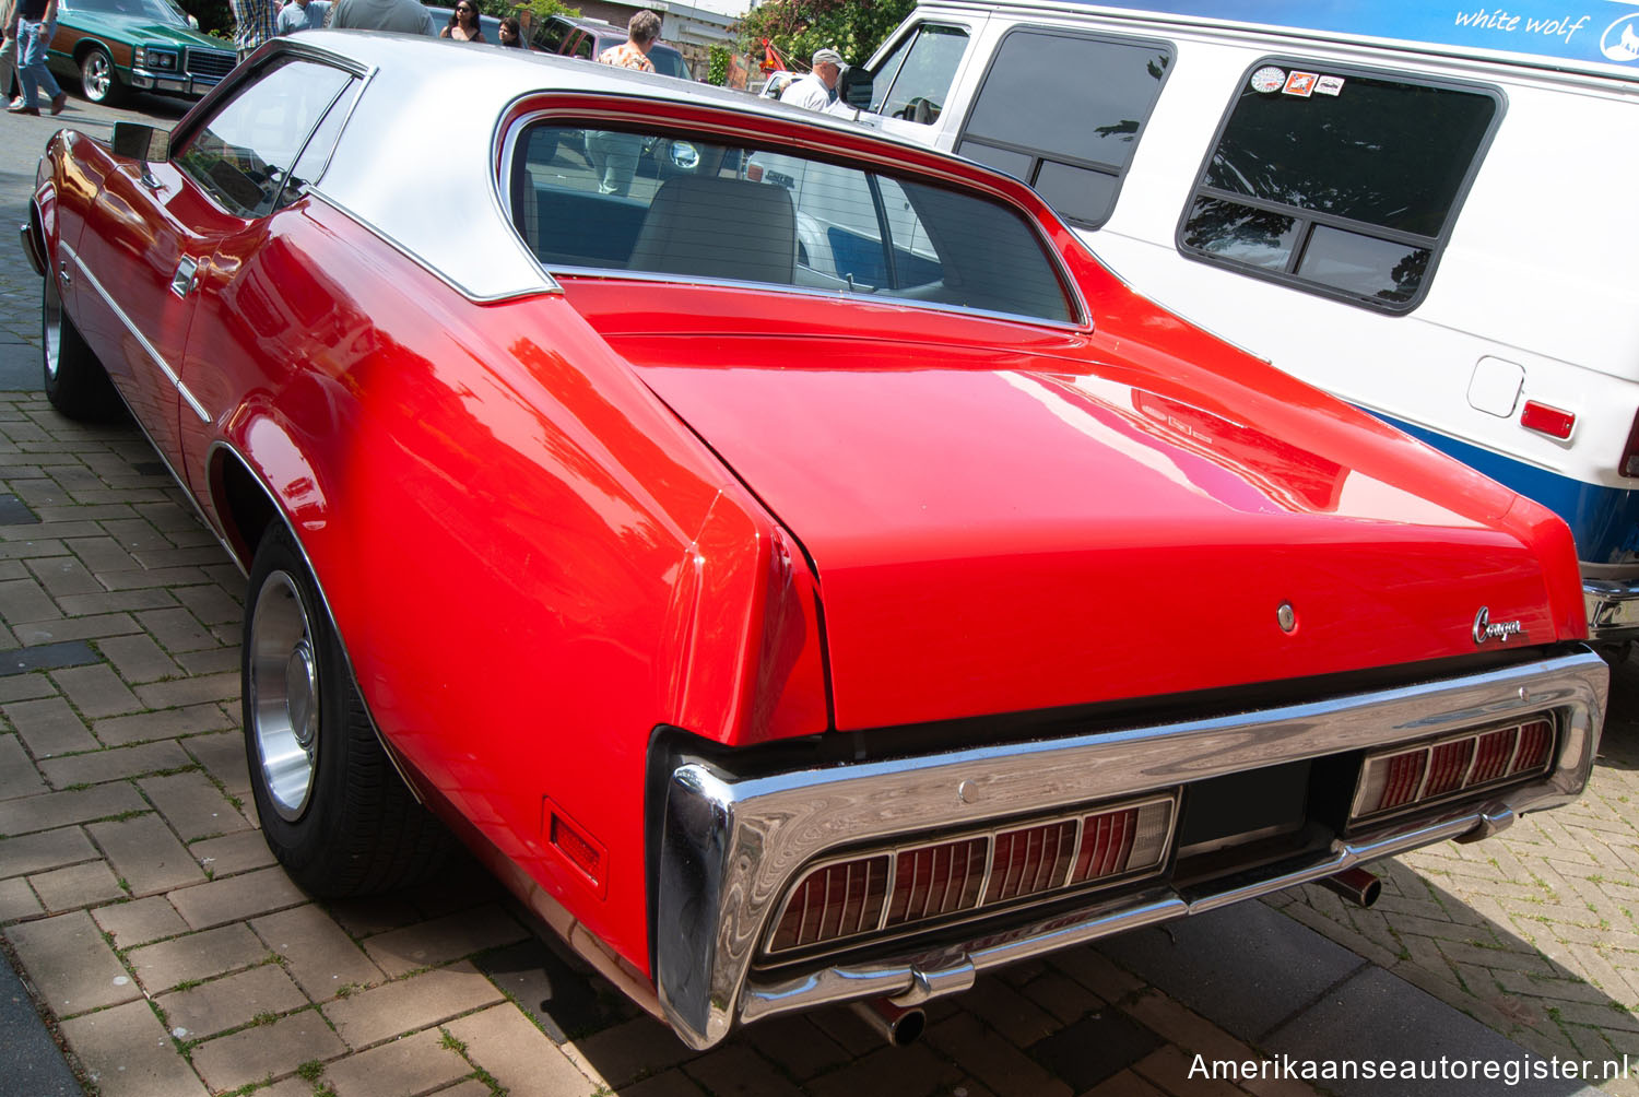
[[[59,0],[46,64],[93,103],[128,89],[200,97],[233,71],[233,43],[193,28],[170,0]]]

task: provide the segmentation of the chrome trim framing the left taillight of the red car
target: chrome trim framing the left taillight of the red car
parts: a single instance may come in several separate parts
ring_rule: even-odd
[[[1070,882],[1070,876],[1075,872],[1075,864],[1080,859],[1083,843],[1087,841],[1087,822],[1106,815],[1116,815],[1119,812],[1142,812],[1151,805],[1165,805],[1167,808],[1167,830],[1162,836],[1160,848],[1154,861],[1133,866],[1113,872],[1110,876],[1095,876],[1082,882]],[[1137,820],[1134,820],[1136,825]],[[1064,823],[1075,825],[1075,838],[1070,844],[1070,853],[1064,858],[1062,871],[1054,869],[1057,879],[1051,881],[1047,887],[1028,894],[1015,894],[1001,899],[990,899],[992,874],[997,867],[997,838],[1001,835],[1010,835],[1021,830],[1037,830]],[[864,846],[854,848],[836,856],[828,856],[815,861],[808,867],[801,869],[792,877],[792,884],[785,889],[785,897],[780,899],[774,917],[769,918],[764,940],[760,945],[760,954],[769,958],[770,963],[792,963],[797,959],[813,959],[816,956],[824,956],[846,948],[856,948],[859,943],[870,938],[893,938],[905,936],[911,933],[923,933],[929,928],[944,925],[959,925],[964,922],[972,922],[977,918],[988,918],[993,913],[1005,910],[1018,910],[1019,907],[1029,907],[1034,904],[1057,902],[1065,895],[1078,895],[1083,892],[1093,892],[1105,887],[1118,887],[1123,884],[1131,884],[1133,881],[1141,881],[1146,876],[1155,876],[1162,872],[1167,866],[1167,858],[1172,853],[1172,841],[1178,830],[1178,794],[1175,789],[1157,795],[1131,797],[1124,800],[1106,800],[1103,803],[1088,803],[1074,812],[1054,812],[1052,815],[1026,817],[1026,818],[1008,818],[997,820],[988,826],[964,830],[954,835],[942,835],[928,841],[910,841],[893,846]],[[957,907],[954,910],[946,910],[936,915],[924,915],[919,918],[911,918],[890,925],[890,912],[893,908],[895,897],[895,881],[898,879],[900,858],[916,854],[923,849],[939,849],[944,846],[956,846],[962,843],[970,843],[983,840],[985,841],[985,869],[978,882],[977,899],[970,905]],[[785,925],[785,917],[792,910],[792,904],[803,892],[816,874],[824,872],[838,864],[851,864],[856,861],[874,861],[877,858],[888,858],[887,881],[883,884],[882,894],[882,910],[877,917],[877,925],[869,930],[856,930],[854,933],[838,935],[824,941],[797,943],[787,948],[775,948],[775,938],[780,928]],[[1129,854],[1131,856],[1131,854]],[[869,887],[869,882],[867,882]],[[869,899],[867,899],[869,902]]]

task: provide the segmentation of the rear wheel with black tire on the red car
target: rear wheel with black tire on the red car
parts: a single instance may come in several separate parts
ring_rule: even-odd
[[[382,751],[313,577],[279,521],[251,566],[239,659],[251,794],[290,879],[338,897],[436,871],[451,835]]]

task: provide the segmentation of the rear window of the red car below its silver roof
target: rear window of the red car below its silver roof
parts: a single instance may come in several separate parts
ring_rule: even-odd
[[[1021,212],[808,157],[641,130],[536,123],[516,143],[513,220],[554,274],[756,282],[1072,323]]]

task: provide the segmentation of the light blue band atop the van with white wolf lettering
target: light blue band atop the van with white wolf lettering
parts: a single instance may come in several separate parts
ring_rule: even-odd
[[[1624,0],[1088,0],[1090,7],[1164,10],[1205,20],[1326,34],[1496,49],[1560,62],[1632,69],[1639,79],[1639,11]]]

